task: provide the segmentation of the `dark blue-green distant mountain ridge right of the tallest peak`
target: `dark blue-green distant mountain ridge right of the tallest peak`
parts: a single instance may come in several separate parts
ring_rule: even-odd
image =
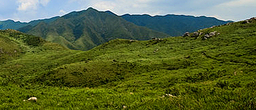
[[[124,14],[123,19],[133,22],[138,26],[148,27],[150,29],[167,33],[171,36],[181,36],[185,32],[193,32],[211,26],[219,26],[232,21],[218,20],[212,17],[195,17],[167,14],[165,16],[150,16]]]

